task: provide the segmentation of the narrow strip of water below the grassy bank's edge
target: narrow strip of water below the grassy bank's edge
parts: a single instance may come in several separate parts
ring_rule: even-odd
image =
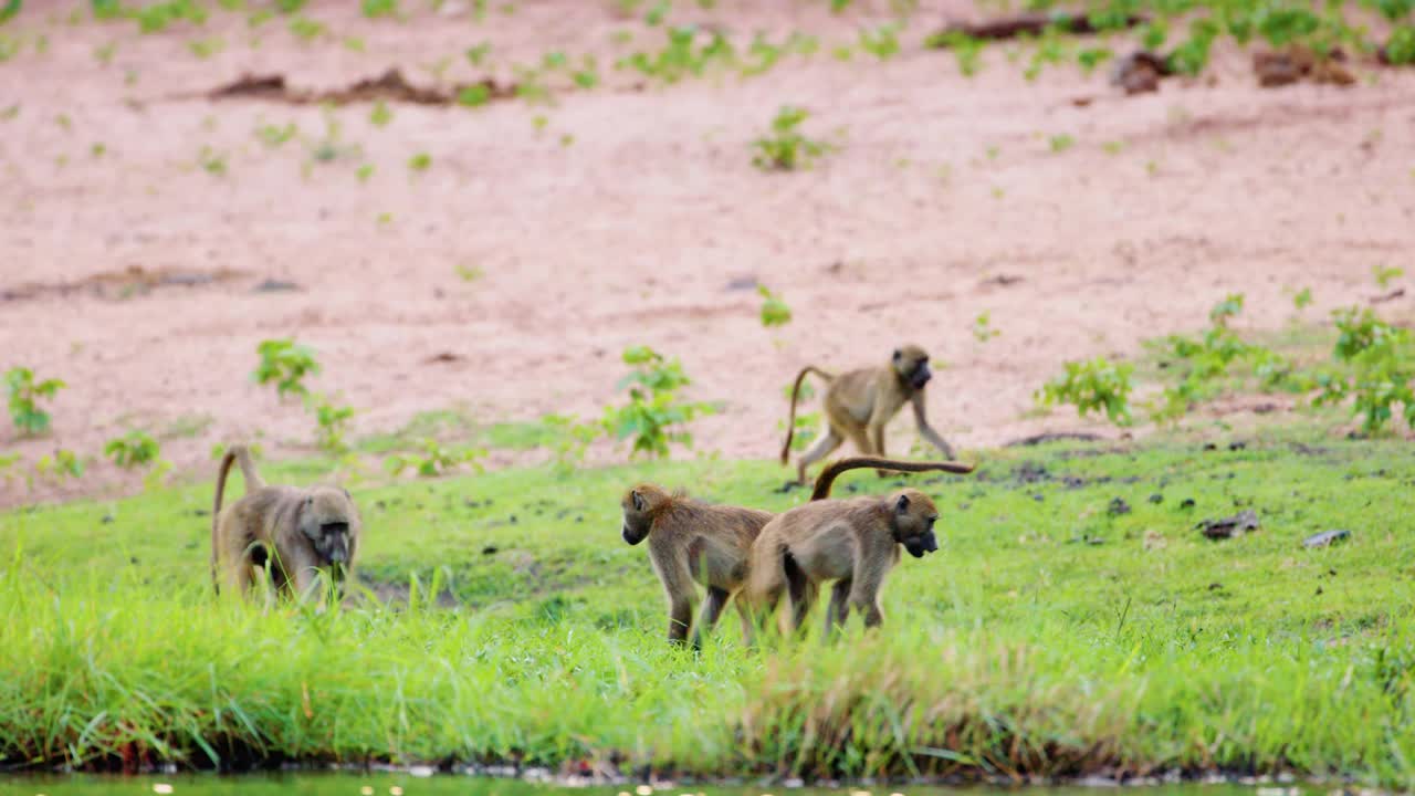
[[[491,779],[461,775],[429,778],[409,773],[289,773],[289,775],[178,775],[178,776],[31,776],[0,778],[4,796],[764,796],[785,790],[791,796],[985,796],[989,788],[911,788],[874,786],[842,789],[771,789],[679,786],[647,790],[644,788],[556,788],[516,779]],[[1288,796],[1288,789],[1254,789],[1238,785],[1156,785],[1126,789],[1136,796]],[[1116,796],[1114,788],[1037,788],[1032,796]]]

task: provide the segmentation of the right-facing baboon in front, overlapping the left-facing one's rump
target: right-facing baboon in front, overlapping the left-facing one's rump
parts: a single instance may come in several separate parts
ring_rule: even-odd
[[[835,467],[826,467],[821,480],[839,474]],[[947,463],[928,469],[966,473],[972,466]],[[751,545],[743,599],[758,615],[754,619],[760,619],[774,615],[781,595],[790,592],[791,625],[799,630],[821,584],[835,581],[826,633],[845,623],[852,606],[863,612],[866,627],[876,627],[884,620],[879,591],[899,564],[899,547],[904,545],[914,558],[937,551],[935,520],[938,508],[917,489],[849,500],[818,501],[812,494],[811,503],[777,514],[763,525]]]

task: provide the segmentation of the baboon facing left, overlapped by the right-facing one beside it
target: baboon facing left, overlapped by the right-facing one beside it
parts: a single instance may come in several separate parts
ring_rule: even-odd
[[[857,467],[955,473],[972,470],[971,465],[951,462],[896,462],[865,456],[842,459],[821,472],[811,500],[829,497],[836,476]],[[649,561],[668,593],[668,640],[682,643],[692,629],[692,649],[700,650],[703,632],[713,629],[727,601],[733,598],[737,598],[734,602],[743,633],[750,637],[750,616],[739,593],[747,579],[753,541],[773,514],[737,506],[710,506],[648,483],[624,493],[621,506],[624,541],[635,545],[648,538]],[[692,627],[693,603],[698,599],[695,581],[708,589],[708,601],[698,626]]]

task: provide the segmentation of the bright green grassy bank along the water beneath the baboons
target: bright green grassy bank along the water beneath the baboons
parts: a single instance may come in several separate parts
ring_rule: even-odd
[[[782,470],[689,462],[361,489],[389,605],[209,598],[209,484],[0,517],[6,766],[652,763],[681,775],[1223,768],[1415,783],[1415,456],[1285,433],[985,452],[886,627],[753,654],[662,640],[633,480],[768,508]],[[270,467],[273,474],[279,469]],[[282,477],[306,480],[308,470]],[[850,487],[882,491],[873,473]],[[1242,508],[1262,528],[1208,541]],[[1306,550],[1302,538],[1353,538]],[[818,612],[812,618],[816,625]]]

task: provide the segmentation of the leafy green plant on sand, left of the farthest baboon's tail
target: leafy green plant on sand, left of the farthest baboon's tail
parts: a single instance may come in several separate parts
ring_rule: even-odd
[[[604,409],[604,429],[616,439],[634,439],[630,456],[666,457],[672,445],[692,448],[693,438],[685,426],[716,409],[710,404],[679,401],[678,392],[691,380],[678,360],[665,360],[648,346],[634,346],[624,350],[624,364],[633,368],[620,382],[620,390],[628,388],[628,404]]]

